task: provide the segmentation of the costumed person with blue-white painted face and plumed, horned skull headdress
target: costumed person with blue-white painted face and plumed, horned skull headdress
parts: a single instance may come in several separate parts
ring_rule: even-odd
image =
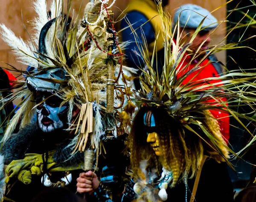
[[[96,4],[96,9],[100,9],[102,2]],[[85,19],[98,18],[97,15],[87,17],[93,13],[90,3],[84,9],[83,20],[67,19],[70,13],[63,14],[63,6],[61,0],[53,0],[49,16],[45,0],[35,1],[38,16],[32,42],[25,43],[0,25],[1,37],[17,58],[33,67],[30,72],[19,70],[26,81],[17,81],[15,87],[20,90],[16,96],[6,98],[9,102],[24,99],[8,123],[0,150],[0,199],[5,201],[29,202],[47,187],[67,187],[75,192],[79,173],[98,169],[104,134],[106,69],[114,68],[104,58],[120,61],[121,49],[112,49],[112,53],[101,49],[103,45],[108,48],[115,40],[113,30],[107,27],[112,24],[106,11],[100,14],[99,22],[105,25],[104,29],[100,28],[104,38],[96,38],[93,28],[98,30],[99,26],[90,23],[89,31],[83,23]],[[70,10],[71,1],[67,8]],[[107,33],[107,28],[112,34]],[[108,82],[110,85],[112,80]],[[122,92],[125,87],[115,89]],[[115,119],[112,121],[115,123]],[[116,133],[125,131],[126,127],[122,124]],[[18,133],[14,133],[16,128]]]

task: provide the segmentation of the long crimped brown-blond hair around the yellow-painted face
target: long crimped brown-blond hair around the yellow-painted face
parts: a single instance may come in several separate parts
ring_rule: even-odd
[[[143,115],[151,111],[154,114],[155,124],[158,135],[161,156],[157,159],[153,148],[147,143],[146,128],[143,127]],[[220,141],[224,143],[224,139],[219,130],[218,122],[212,118],[211,113],[206,110],[204,113],[195,113],[206,130],[216,139],[216,144]],[[129,136],[128,147],[131,151],[131,166],[134,170],[134,178],[138,178],[138,169],[140,162],[148,160],[151,168],[159,169],[164,167],[166,170],[172,171],[173,181],[171,186],[174,187],[177,182],[193,178],[201,166],[203,156],[207,155],[217,162],[224,161],[222,156],[228,158],[228,150],[226,147],[212,144],[208,136],[195,124],[189,126],[198,134],[191,132],[183,127],[179,118],[175,119],[169,115],[163,107],[141,107],[134,118]],[[204,141],[204,140],[206,141]],[[222,156],[221,156],[221,155]],[[160,168],[158,167],[158,164]]]

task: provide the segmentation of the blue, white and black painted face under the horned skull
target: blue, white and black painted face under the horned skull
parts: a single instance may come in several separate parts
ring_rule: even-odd
[[[51,95],[37,92],[37,104],[47,98],[37,107],[38,125],[45,133],[63,128],[67,121],[67,106],[60,107],[62,100],[56,95]]]

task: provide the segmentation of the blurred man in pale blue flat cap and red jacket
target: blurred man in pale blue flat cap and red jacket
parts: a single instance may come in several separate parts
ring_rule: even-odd
[[[178,19],[181,33],[180,44],[189,43],[193,35],[196,35],[196,37],[189,45],[189,52],[185,53],[184,58],[180,62],[180,72],[177,72],[177,78],[188,73],[191,69],[197,66],[202,66],[203,68],[190,73],[183,81],[183,84],[196,82],[201,79],[204,80],[210,77],[219,77],[224,73],[224,69],[217,63],[215,55],[210,55],[202,61],[202,58],[207,54],[207,50],[209,49],[211,32],[218,26],[218,20],[209,11],[194,4],[180,6],[175,12],[175,24],[178,23]],[[195,33],[201,22],[202,26],[200,31]],[[174,34],[177,35],[177,32]],[[197,54],[197,57],[191,61],[194,54]],[[197,65],[199,62],[200,64]],[[218,83],[219,81],[220,80],[215,80],[215,83]],[[222,98],[222,101],[225,101],[225,99],[226,98]],[[208,102],[215,102],[215,100],[208,100]],[[211,113],[218,119],[221,133],[224,136],[224,139],[228,142],[228,139],[230,138],[229,114],[221,110],[212,110]]]

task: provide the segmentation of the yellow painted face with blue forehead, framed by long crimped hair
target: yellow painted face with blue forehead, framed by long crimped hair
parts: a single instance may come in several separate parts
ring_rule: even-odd
[[[148,111],[144,114],[144,125],[147,129],[147,142],[151,144],[155,154],[161,156],[160,144],[157,135],[157,127],[154,120],[154,115],[151,111]]]

